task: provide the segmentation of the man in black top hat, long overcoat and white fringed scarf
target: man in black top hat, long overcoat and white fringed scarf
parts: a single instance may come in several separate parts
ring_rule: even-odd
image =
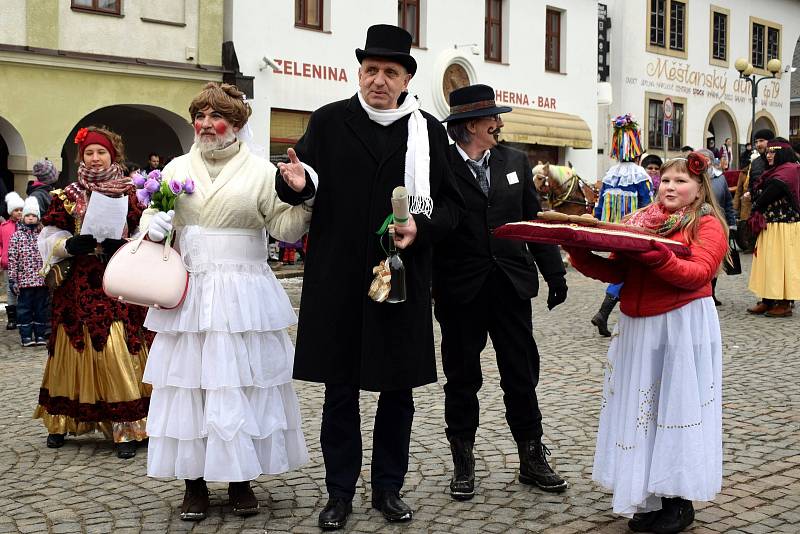
[[[360,390],[380,392],[372,446],[372,505],[390,521],[411,519],[399,491],[408,470],[412,388],[436,381],[431,314],[432,245],[456,225],[463,200],[447,163],[447,135],[406,89],[416,62],[411,35],[369,28],[359,91],[315,111],[278,164],[280,198],[298,204],[317,183],[300,301],[294,377],[325,384],[320,442],[329,500],[323,529],[344,526],[361,472]],[[396,226],[407,300],[368,296],[386,259],[376,235],[408,189],[411,217]],[[303,188],[305,186],[305,189]],[[297,193],[296,191],[299,191]],[[347,254],[342,254],[347,251]]]

